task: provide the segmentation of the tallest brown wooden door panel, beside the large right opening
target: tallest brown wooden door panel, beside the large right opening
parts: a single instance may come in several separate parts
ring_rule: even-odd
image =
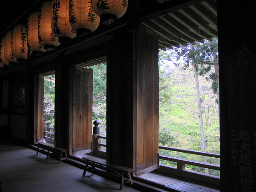
[[[136,44],[136,169],[142,174],[158,168],[158,39],[141,30]]]

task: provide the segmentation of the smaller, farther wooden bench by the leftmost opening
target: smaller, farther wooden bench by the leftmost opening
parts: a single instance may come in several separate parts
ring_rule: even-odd
[[[42,149],[39,150],[39,148],[42,148]],[[37,143],[37,154],[38,154],[38,151],[43,151],[44,152],[44,149],[48,150],[46,159],[48,159],[49,151],[52,151],[54,153],[55,152],[60,153],[59,163],[60,163],[61,160],[67,160],[68,161],[67,149],[63,149],[63,148],[60,148],[60,147],[55,147],[55,146],[53,146],[51,144],[48,144],[48,143]],[[65,157],[62,157],[63,153],[65,154]]]

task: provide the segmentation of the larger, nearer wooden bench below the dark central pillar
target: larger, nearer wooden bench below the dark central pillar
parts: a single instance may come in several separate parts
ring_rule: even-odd
[[[95,167],[99,167],[99,168],[103,168],[106,169],[106,171],[113,171],[115,175],[120,177],[120,190],[123,189],[123,183],[127,182],[127,183],[131,183],[131,185],[133,185],[133,180],[131,177],[131,173],[136,172],[136,170],[128,168],[128,167],[124,167],[121,165],[113,165],[111,163],[108,163],[106,160],[100,160],[100,159],[96,159],[94,157],[82,157],[83,160],[85,160],[85,169],[83,172],[83,176],[85,176],[86,170],[89,168],[92,168],[93,171],[95,169]],[[88,165],[92,164],[91,167],[89,167]],[[124,173],[127,174],[128,178],[124,178]]]

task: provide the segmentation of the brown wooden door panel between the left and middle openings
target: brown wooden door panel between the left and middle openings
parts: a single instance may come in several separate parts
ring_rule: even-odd
[[[72,154],[91,152],[93,70],[73,67],[70,93]]]

